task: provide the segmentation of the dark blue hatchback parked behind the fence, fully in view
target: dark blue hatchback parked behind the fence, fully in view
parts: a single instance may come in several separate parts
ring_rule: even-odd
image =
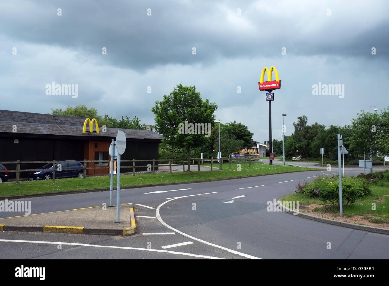
[[[61,164],[61,171],[58,168]],[[68,170],[70,168],[76,168],[75,170]],[[39,169],[47,169],[43,171],[28,172],[29,180],[51,180],[53,178],[53,164],[48,163]],[[65,160],[56,163],[55,165],[55,178],[72,178],[72,177],[84,177],[84,165],[79,162]]]

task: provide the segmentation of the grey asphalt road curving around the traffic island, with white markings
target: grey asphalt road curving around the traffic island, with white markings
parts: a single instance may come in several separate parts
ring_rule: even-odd
[[[388,235],[266,211],[268,201],[292,193],[299,181],[335,172],[122,190],[121,202],[135,204],[137,235],[0,232],[0,248],[7,249],[0,259],[387,259]],[[108,203],[109,191],[28,200],[32,213],[61,211]]]

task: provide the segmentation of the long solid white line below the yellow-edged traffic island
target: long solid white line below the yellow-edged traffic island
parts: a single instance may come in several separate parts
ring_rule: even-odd
[[[71,245],[71,246],[89,246],[89,247],[100,247],[100,248],[116,248],[116,249],[130,249],[130,250],[142,250],[142,251],[155,251],[163,252],[170,254],[181,254],[186,256],[200,257],[200,258],[209,258],[209,259],[225,259],[214,256],[184,253],[178,251],[170,250],[161,250],[161,249],[148,249],[148,248],[138,248],[138,247],[125,247],[125,246],[111,246],[111,245],[97,245],[97,244],[86,244],[86,243],[77,243],[77,242],[55,242],[55,241],[36,241],[36,240],[16,240],[16,239],[0,239],[0,242],[24,242],[24,243],[34,243],[34,244],[61,244],[61,245]]]

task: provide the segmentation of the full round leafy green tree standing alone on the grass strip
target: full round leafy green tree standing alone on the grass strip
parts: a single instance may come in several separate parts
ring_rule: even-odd
[[[186,149],[188,171],[190,171],[191,148],[205,144],[207,134],[183,133],[180,126],[186,123],[188,127],[189,123],[203,123],[208,127],[208,123],[212,125],[215,121],[216,109],[217,105],[210,103],[209,99],[202,100],[195,86],[182,86],[181,83],[170,95],[163,95],[163,100],[157,100],[151,109],[155,114],[155,130],[163,135],[163,140],[166,140],[170,146]]]

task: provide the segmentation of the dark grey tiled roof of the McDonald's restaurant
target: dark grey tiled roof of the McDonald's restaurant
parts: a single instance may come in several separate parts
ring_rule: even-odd
[[[12,126],[16,125],[17,133],[25,134],[81,137],[116,137],[117,135],[117,128],[107,128],[107,132],[102,132],[102,126],[99,126],[99,134],[82,133],[84,121],[85,118],[79,117],[0,110],[0,133],[12,133]],[[89,124],[86,127],[86,131],[88,130]],[[93,124],[93,131],[96,132],[95,124]],[[153,131],[133,129],[122,129],[122,131],[128,139],[162,139],[160,134]]]

